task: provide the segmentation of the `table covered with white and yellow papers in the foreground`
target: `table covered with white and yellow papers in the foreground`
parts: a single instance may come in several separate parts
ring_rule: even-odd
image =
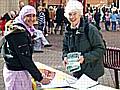
[[[100,85],[98,82],[93,81],[86,75],[82,75],[82,77],[77,80],[71,75],[56,70],[40,62],[35,62],[35,65],[38,69],[47,69],[56,72],[56,75],[50,84],[42,85],[42,89],[37,87],[37,90],[118,90],[108,86]]]

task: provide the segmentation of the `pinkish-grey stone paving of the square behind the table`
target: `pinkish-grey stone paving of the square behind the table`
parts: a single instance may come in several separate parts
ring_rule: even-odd
[[[120,48],[120,32],[106,32],[103,31],[103,36],[107,42],[108,46],[115,46]],[[33,60],[37,62],[44,63],[48,66],[56,68],[66,73],[63,65],[62,65],[62,35],[49,35],[47,39],[53,45],[49,48],[43,48],[44,53],[34,53]],[[0,58],[0,90],[4,90],[4,82],[2,77],[2,68],[3,68],[3,58]],[[120,73],[119,73],[120,76]],[[120,77],[119,77],[120,81]],[[105,74],[99,79],[99,82],[102,85],[115,87],[114,82],[114,73],[113,70],[105,68]]]

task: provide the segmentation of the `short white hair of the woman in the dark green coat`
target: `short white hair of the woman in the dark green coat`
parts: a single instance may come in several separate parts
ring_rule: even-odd
[[[80,15],[83,15],[83,5],[77,0],[69,0],[65,7],[65,17],[69,18],[70,12],[79,12]]]

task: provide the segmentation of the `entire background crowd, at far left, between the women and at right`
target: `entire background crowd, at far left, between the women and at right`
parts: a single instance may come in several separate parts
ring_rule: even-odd
[[[19,9],[21,10],[24,5],[24,2],[20,2]],[[40,38],[43,37],[44,40],[42,41],[46,41],[48,46],[49,42],[47,41],[46,36],[50,34],[63,35],[63,32],[66,30],[66,26],[69,24],[69,21],[64,16],[64,7],[64,5],[51,5],[48,6],[48,8],[46,8],[45,5],[40,5],[37,7],[37,27],[35,28],[39,32],[37,33],[37,35],[40,35]],[[9,20],[13,20],[16,16],[18,16],[19,11],[12,10],[6,12],[5,14],[3,14],[3,16],[0,17],[0,20],[3,21],[1,22],[3,25],[3,33],[5,30],[4,26],[6,22],[8,22]],[[99,31],[104,30],[114,32],[120,30],[120,10],[115,7],[88,7],[84,16],[86,21],[94,24]],[[44,43],[41,43],[41,45],[39,46],[43,47],[46,45],[44,45]]]

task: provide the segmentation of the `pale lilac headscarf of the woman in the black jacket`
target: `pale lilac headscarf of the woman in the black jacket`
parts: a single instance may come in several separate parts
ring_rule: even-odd
[[[25,27],[26,27],[26,30],[28,30],[32,36],[33,34],[33,31],[35,30],[34,26],[32,27],[29,27],[25,24],[24,22],[24,17],[26,15],[29,15],[29,14],[35,14],[36,15],[36,10],[33,6],[30,6],[30,5],[26,5],[24,6],[19,15],[13,20],[13,21],[10,21],[10,23],[8,24],[9,27],[12,27],[13,24],[17,24],[17,23],[21,23],[23,24]],[[14,26],[13,26],[14,27]],[[25,30],[25,29],[24,29]],[[5,36],[12,33],[14,30],[8,30],[7,28],[7,25],[5,25],[5,35],[0,39],[0,47],[4,44],[5,42]]]

